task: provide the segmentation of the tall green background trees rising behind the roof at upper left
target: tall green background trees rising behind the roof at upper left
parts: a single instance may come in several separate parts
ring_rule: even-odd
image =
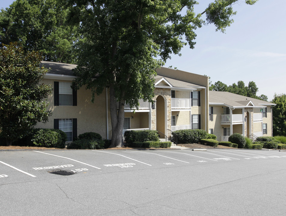
[[[0,12],[0,45],[20,42],[41,51],[47,61],[75,63],[77,28],[66,22],[68,10],[57,0],[16,0]]]

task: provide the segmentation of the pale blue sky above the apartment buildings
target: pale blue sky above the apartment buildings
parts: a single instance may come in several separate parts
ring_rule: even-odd
[[[9,7],[12,0],[1,1]],[[204,11],[209,1],[199,1],[197,13]],[[234,5],[237,14],[226,34],[215,32],[213,25],[197,29],[195,49],[188,46],[181,56],[172,55],[165,67],[177,67],[191,73],[211,77],[227,85],[242,80],[254,81],[257,95],[273,99],[274,93],[285,93],[286,83],[286,19],[285,0],[259,0],[254,5]]]

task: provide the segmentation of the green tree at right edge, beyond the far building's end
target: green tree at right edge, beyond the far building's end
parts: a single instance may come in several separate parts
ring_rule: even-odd
[[[271,102],[276,104],[272,108],[273,136],[286,136],[286,95],[275,93]]]

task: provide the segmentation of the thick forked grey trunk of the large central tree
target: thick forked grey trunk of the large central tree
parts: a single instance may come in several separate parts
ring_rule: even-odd
[[[124,104],[125,101],[120,100],[119,110],[117,111],[117,102],[113,86],[110,86],[110,115],[112,137],[110,147],[123,146],[123,124],[124,124]]]

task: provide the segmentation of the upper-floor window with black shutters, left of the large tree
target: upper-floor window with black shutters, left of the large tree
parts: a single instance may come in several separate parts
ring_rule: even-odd
[[[71,82],[54,82],[54,106],[77,106],[77,91]]]

